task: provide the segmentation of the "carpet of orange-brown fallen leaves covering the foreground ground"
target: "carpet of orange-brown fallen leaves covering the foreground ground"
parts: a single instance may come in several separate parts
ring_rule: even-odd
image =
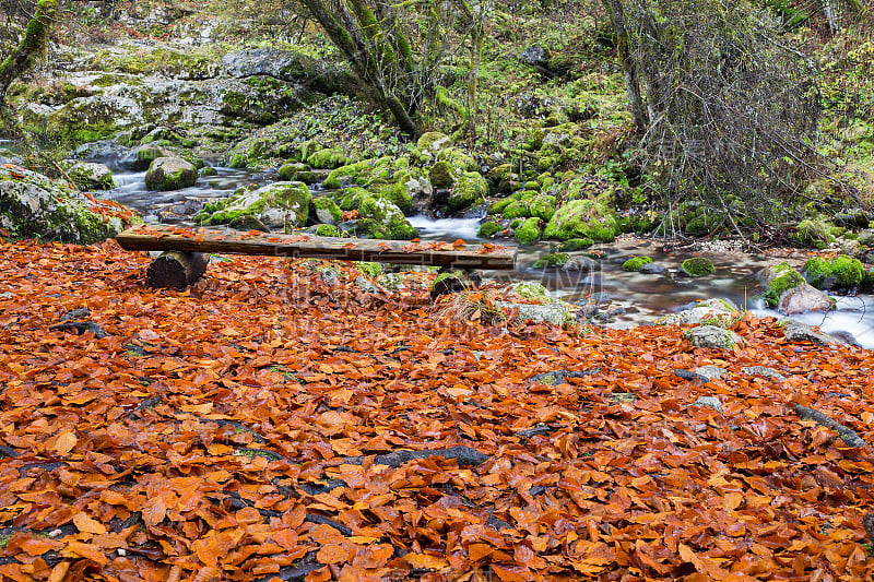
[[[871,352],[749,316],[731,352],[459,325],[351,263],[152,290],[147,263],[0,242],[3,579],[871,580],[872,451],[791,405],[874,442]],[[729,375],[675,373],[702,365]]]

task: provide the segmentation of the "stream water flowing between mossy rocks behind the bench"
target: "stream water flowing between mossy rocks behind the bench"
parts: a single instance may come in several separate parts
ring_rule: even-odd
[[[146,223],[185,223],[209,199],[227,197],[246,183],[268,183],[271,176],[245,169],[215,167],[216,176],[204,177],[191,188],[172,192],[154,192],[145,189],[144,173],[123,169],[116,156],[94,159],[107,164],[114,171],[117,188],[108,197],[139,211]],[[410,219],[423,240],[475,240],[480,227],[479,218],[441,218],[413,216]],[[727,253],[708,256],[712,259],[717,274],[700,278],[675,277],[680,264],[689,253],[668,253],[658,240],[636,240],[598,245],[604,259],[601,270],[593,273],[567,272],[552,269],[533,269],[532,263],[544,253],[553,251],[554,244],[542,242],[521,246],[517,269],[510,273],[491,272],[487,278],[498,281],[536,281],[551,293],[568,302],[581,301],[601,293],[609,297],[611,326],[631,326],[653,322],[660,316],[680,311],[695,301],[711,297],[731,299],[740,307],[753,310],[758,317],[780,317],[767,309],[763,301],[754,298],[753,274],[773,264],[773,257]],[[628,273],[622,270],[625,259],[646,254],[664,268],[660,274]],[[826,332],[849,332],[860,345],[874,348],[874,297],[837,297],[837,310],[830,313],[810,313],[796,317],[805,323],[819,325]]]

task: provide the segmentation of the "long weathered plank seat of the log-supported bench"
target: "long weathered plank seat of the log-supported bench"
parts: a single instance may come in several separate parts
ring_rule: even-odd
[[[315,235],[281,235],[250,230],[187,228],[172,225],[137,226],[116,237],[125,250],[180,250],[229,254],[265,254],[341,261],[423,264],[456,269],[511,270],[516,247],[453,245]]]

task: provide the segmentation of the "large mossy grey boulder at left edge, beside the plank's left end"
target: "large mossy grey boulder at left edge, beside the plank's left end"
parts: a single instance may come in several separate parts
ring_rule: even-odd
[[[0,167],[0,228],[13,236],[87,245],[125,228],[121,219],[93,207],[81,192],[42,174]]]

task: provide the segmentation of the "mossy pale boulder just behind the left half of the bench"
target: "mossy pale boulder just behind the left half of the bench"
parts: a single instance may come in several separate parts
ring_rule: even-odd
[[[228,224],[239,216],[255,216],[271,228],[291,231],[309,216],[310,193],[303,182],[273,182],[258,189],[240,188],[227,200],[206,204],[194,215],[203,225]]]

